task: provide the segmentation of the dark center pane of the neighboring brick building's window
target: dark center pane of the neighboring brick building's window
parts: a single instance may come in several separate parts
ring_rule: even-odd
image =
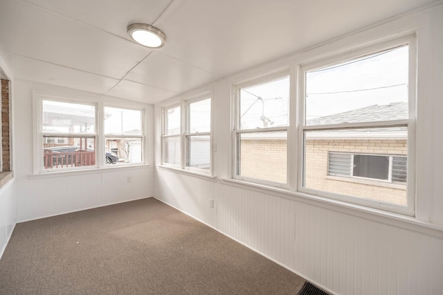
[[[388,180],[388,172],[388,156],[354,154],[354,176]]]

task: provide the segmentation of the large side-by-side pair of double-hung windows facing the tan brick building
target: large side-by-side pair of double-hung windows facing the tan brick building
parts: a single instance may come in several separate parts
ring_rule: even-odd
[[[232,178],[413,215],[415,59],[407,36],[233,84]]]

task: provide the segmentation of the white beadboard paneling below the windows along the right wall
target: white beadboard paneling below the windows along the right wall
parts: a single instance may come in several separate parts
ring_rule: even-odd
[[[156,181],[161,201],[336,294],[443,294],[442,238],[163,168]]]

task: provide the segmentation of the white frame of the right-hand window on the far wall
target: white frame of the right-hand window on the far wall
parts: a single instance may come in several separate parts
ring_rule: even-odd
[[[146,145],[145,145],[145,109],[144,108],[140,108],[140,107],[122,107],[121,105],[108,105],[105,104],[103,105],[103,114],[105,114],[105,107],[111,107],[114,109],[127,109],[129,111],[140,111],[140,132],[141,135],[112,135],[112,136],[107,136],[107,134],[105,134],[105,117],[102,116],[103,120],[102,120],[102,125],[103,125],[103,148],[105,149],[106,147],[106,139],[109,137],[112,138],[139,138],[141,141],[141,161],[140,162],[136,162],[136,163],[118,163],[118,166],[132,166],[132,165],[140,165],[143,163],[146,163],[146,155],[145,155],[145,150],[146,150]],[[106,150],[105,150],[106,152]],[[100,155],[105,155],[105,152],[102,152]],[[110,152],[110,151],[109,151]],[[101,156],[100,156],[101,157]],[[103,156],[105,157],[105,156]],[[116,166],[114,164],[107,164],[106,163],[106,159],[104,159],[103,161],[104,165],[106,167],[113,167]],[[116,166],[116,167],[118,167]]]

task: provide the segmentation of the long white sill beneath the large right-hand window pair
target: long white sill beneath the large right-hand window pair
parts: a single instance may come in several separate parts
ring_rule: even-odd
[[[443,238],[443,224],[431,224],[422,222],[415,217],[401,215],[399,213],[391,213],[367,206],[356,205],[348,202],[339,201],[336,199],[329,199],[326,197],[319,197],[307,193],[291,192],[283,188],[274,188],[271,186],[264,186],[262,184],[255,184],[246,181],[239,181],[237,179],[220,179],[221,184],[235,186],[246,190],[253,190],[257,193],[268,193],[277,197],[285,199],[296,199],[298,202],[303,202],[312,206],[326,208],[337,211],[347,215],[356,217],[363,217],[374,222],[381,222],[391,226],[397,226],[402,229],[408,229],[417,233],[425,233],[437,238]]]

